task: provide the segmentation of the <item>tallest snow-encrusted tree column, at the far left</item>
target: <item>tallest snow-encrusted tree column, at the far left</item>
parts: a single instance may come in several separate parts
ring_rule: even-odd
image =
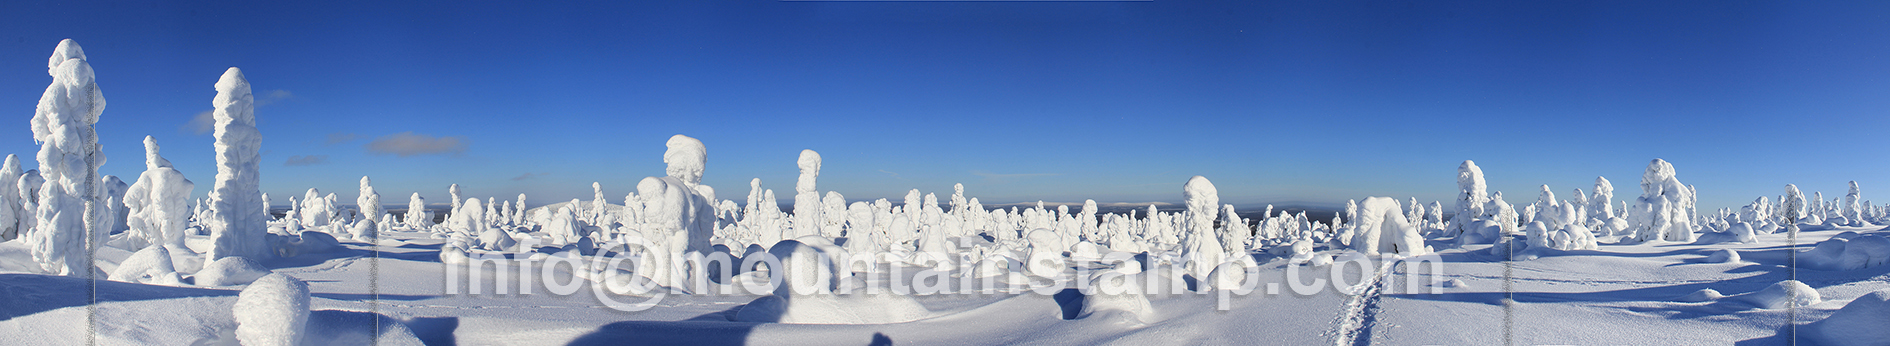
[[[106,163],[93,125],[106,110],[93,66],[77,42],[64,40],[47,61],[53,83],[40,96],[32,140],[40,144],[38,229],[30,233],[32,259],[51,274],[93,276],[93,233],[108,233],[98,166]]]

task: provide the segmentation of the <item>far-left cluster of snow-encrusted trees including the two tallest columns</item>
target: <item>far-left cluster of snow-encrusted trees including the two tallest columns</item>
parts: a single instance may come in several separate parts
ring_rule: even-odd
[[[229,68],[215,83],[217,180],[210,199],[195,204],[195,183],[159,155],[151,136],[144,138],[146,170],[134,183],[98,174],[106,157],[94,127],[106,100],[77,42],[59,42],[47,74],[53,83],[32,117],[40,168],[23,170],[15,155],[0,166],[0,240],[26,242],[47,274],[246,284],[253,278],[244,272],[266,272],[257,261],[280,257],[285,253],[280,248],[302,242],[272,234],[265,225],[268,206],[257,189],[261,136],[242,70]],[[193,244],[191,236],[204,240]],[[106,272],[96,261],[104,246],[132,255]]]

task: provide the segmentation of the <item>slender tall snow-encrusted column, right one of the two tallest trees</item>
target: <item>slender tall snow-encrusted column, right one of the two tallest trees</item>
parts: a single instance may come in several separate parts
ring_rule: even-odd
[[[265,259],[276,251],[268,244],[268,210],[263,206],[261,161],[263,134],[255,129],[255,96],[242,70],[229,68],[217,79],[217,98],[210,102],[215,117],[217,180],[210,189],[210,259]]]

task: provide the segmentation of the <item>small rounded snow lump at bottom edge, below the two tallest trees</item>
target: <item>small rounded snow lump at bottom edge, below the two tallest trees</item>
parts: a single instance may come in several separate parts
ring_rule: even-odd
[[[231,314],[236,340],[246,346],[301,344],[308,327],[308,284],[285,274],[263,276],[236,295]]]

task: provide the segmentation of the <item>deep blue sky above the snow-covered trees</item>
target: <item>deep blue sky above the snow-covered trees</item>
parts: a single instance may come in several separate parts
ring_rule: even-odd
[[[151,134],[198,197],[215,168],[191,119],[244,68],[278,204],[352,202],[361,176],[389,204],[592,182],[622,202],[671,134],[737,200],[750,178],[792,200],[799,149],[826,157],[822,191],[894,200],[1174,202],[1200,174],[1240,208],[1450,204],[1463,159],[1512,202],[1595,176],[1631,199],[1654,157],[1707,208],[1890,195],[1890,2],[13,0],[0,153],[28,168],[62,38],[110,102],[104,174],[134,180]],[[461,146],[370,151],[401,132]]]

